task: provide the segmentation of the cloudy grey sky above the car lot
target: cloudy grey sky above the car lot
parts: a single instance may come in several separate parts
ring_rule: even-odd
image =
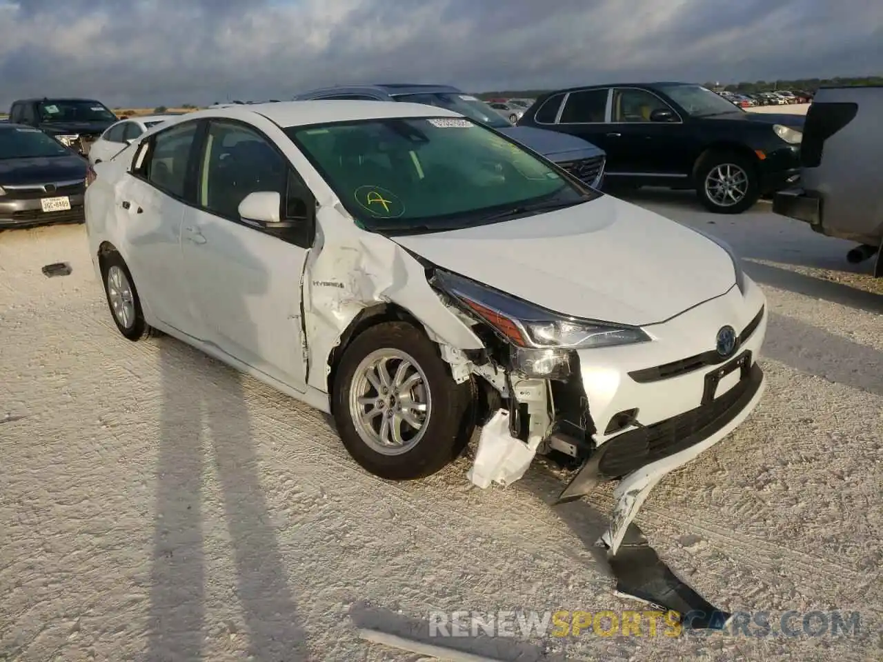
[[[881,73],[880,0],[0,0],[0,109]]]

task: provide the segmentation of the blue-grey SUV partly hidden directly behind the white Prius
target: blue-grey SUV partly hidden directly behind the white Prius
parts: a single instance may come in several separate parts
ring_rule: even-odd
[[[325,87],[294,97],[294,101],[339,99],[351,101],[423,103],[453,110],[475,122],[487,124],[549,161],[580,181],[600,189],[604,180],[604,152],[576,137],[545,129],[512,126],[505,117],[480,99],[447,85],[360,85]]]

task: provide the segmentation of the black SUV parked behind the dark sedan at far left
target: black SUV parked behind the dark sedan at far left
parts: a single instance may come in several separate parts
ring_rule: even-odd
[[[12,102],[9,110],[10,122],[35,126],[84,156],[118,119],[94,99],[21,99]]]

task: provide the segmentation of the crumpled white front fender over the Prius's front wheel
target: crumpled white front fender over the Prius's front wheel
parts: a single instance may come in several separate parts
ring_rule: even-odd
[[[328,391],[328,357],[359,312],[393,303],[411,313],[434,342],[457,350],[484,347],[442,304],[424,268],[387,237],[359,229],[339,202],[319,208],[316,241],[301,283],[307,384]]]

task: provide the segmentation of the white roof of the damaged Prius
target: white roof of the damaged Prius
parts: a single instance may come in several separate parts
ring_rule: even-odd
[[[448,109],[420,103],[369,101],[304,101],[272,102],[236,105],[228,108],[205,109],[189,113],[192,117],[240,117],[250,115],[267,117],[283,127],[358,122],[388,117],[462,117]]]

